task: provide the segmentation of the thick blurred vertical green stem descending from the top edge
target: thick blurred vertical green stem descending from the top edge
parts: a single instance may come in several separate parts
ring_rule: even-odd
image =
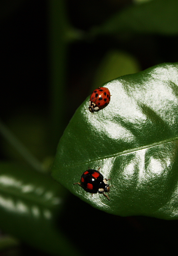
[[[64,115],[67,93],[66,59],[70,26],[63,0],[49,0],[49,53],[51,82],[51,149],[56,151],[57,143],[64,129]]]

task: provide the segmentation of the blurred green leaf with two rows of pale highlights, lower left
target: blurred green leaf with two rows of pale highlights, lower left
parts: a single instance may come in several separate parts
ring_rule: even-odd
[[[0,227],[51,255],[80,255],[55,227],[65,190],[50,176],[0,162]]]

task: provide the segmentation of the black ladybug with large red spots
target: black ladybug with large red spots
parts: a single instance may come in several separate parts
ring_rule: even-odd
[[[107,199],[109,200],[109,197],[106,194],[104,194],[104,192],[109,192],[110,187],[107,184],[107,179],[103,179],[103,175],[99,172],[99,169],[98,170],[89,169],[85,171],[81,175],[81,178],[80,178],[81,183],[77,182],[75,184],[80,185],[80,187],[82,187],[85,191],[92,193],[92,196],[94,193],[97,193],[97,192],[103,193],[103,195],[106,196]]]

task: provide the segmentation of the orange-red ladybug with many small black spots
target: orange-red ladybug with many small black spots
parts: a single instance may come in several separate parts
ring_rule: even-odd
[[[89,111],[99,111],[106,107],[110,101],[110,91],[106,87],[99,87],[94,90],[89,100]]]

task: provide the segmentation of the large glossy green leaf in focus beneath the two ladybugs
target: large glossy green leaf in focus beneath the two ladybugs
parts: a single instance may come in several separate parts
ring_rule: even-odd
[[[100,86],[100,85],[98,85]],[[178,63],[161,64],[105,84],[112,94],[99,112],[77,109],[59,142],[53,177],[105,212],[178,218]],[[110,201],[75,182],[98,169],[111,178]]]

